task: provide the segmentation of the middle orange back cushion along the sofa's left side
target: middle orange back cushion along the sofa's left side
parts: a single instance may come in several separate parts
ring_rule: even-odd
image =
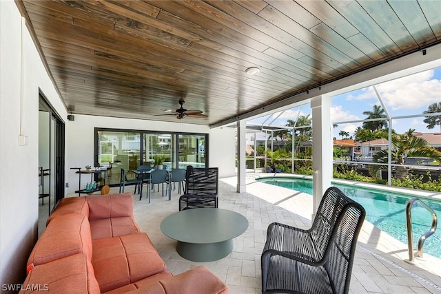
[[[28,266],[45,264],[77,253],[85,253],[92,260],[90,224],[83,213],[57,216],[43,231],[28,258]]]

